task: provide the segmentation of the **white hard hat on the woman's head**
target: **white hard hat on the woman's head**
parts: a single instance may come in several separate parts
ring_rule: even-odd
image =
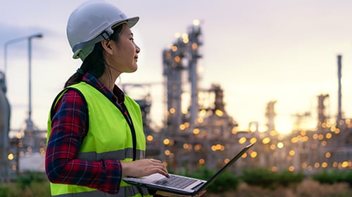
[[[138,20],[139,17],[127,18],[119,8],[106,1],[87,1],[68,18],[66,33],[73,58],[84,61],[97,42],[111,36],[113,27],[122,23],[133,27]]]

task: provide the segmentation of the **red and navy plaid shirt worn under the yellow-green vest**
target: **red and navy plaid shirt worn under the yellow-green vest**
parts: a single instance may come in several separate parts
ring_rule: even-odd
[[[82,81],[92,85],[118,108],[125,100],[115,86],[109,91],[99,80],[86,73]],[[84,136],[87,134],[87,108],[75,90],[65,91],[52,111],[51,135],[46,148],[46,174],[59,184],[88,186],[106,193],[118,193],[122,176],[120,160],[87,161],[77,159]]]

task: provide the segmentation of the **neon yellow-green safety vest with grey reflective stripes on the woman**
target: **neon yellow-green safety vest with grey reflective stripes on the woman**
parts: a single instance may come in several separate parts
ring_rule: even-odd
[[[89,131],[82,142],[77,158],[84,160],[118,159],[121,162],[131,161],[133,158],[132,134],[120,110],[106,96],[89,84],[80,82],[70,87],[79,90],[84,95],[89,109]],[[58,96],[58,98],[61,96]],[[54,102],[57,101],[58,99]],[[127,95],[124,103],[136,131],[136,156],[137,159],[142,159],[145,157],[146,141],[141,111],[139,105]],[[49,117],[51,116],[49,115]],[[48,126],[49,136],[51,132],[50,118]],[[144,193],[144,196],[148,195],[145,189],[142,193]],[[51,183],[51,194],[53,196],[141,196],[136,186],[131,186],[123,181],[120,182],[119,193],[115,195],[85,186],[53,183]]]

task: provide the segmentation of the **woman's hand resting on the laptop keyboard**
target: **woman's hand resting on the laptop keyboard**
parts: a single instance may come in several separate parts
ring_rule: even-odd
[[[170,177],[168,170],[166,170],[166,167],[161,160],[142,159],[131,162],[122,162],[121,165],[122,176],[124,177],[144,177],[155,173]]]

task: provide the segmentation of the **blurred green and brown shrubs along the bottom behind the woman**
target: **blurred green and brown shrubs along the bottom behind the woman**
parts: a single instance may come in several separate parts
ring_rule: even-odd
[[[214,170],[200,168],[192,174],[199,179],[209,179]],[[325,171],[306,177],[301,172],[271,172],[265,169],[244,171],[242,176],[231,172],[222,174],[206,190],[208,197],[227,196],[352,196],[352,171]],[[0,197],[50,196],[49,182],[45,174],[25,172],[15,182],[0,184]]]

